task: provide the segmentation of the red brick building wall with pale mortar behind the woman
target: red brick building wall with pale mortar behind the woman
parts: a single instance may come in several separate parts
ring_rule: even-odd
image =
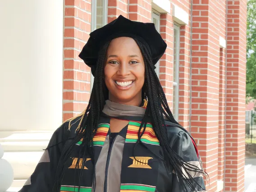
[[[178,121],[197,142],[210,176],[207,190],[240,192],[244,174],[246,0],[167,1],[108,0],[107,23],[120,14],[152,22],[152,10],[160,13],[160,34],[168,47],[160,59],[159,78],[170,108],[174,24],[180,27]],[[164,3],[169,7],[161,7]],[[91,4],[91,0],[65,0],[63,120],[82,112],[90,96],[90,69],[78,54],[91,32]],[[177,7],[187,21],[178,15]]]

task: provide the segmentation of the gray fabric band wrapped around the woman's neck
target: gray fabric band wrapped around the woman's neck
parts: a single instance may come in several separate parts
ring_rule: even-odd
[[[144,117],[146,109],[133,105],[123,105],[120,103],[114,103],[110,100],[106,101],[106,105],[102,110],[108,116],[121,117],[121,116],[137,116]]]

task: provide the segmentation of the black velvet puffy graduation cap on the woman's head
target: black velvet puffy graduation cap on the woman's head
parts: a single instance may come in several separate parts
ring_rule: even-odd
[[[98,54],[105,42],[118,37],[131,37],[141,41],[151,52],[153,64],[164,55],[166,43],[155,29],[154,23],[131,21],[120,15],[104,27],[90,33],[79,57],[91,68],[94,76]]]

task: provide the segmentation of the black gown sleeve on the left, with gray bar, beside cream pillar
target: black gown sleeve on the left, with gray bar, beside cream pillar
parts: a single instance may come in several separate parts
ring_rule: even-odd
[[[67,134],[68,129],[64,123],[52,135],[35,171],[19,192],[51,192],[59,157],[68,138]]]

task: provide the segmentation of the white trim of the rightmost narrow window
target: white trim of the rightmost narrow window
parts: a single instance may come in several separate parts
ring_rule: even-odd
[[[173,82],[173,86],[176,87],[176,95],[175,95],[175,114],[174,119],[178,121],[178,105],[179,105],[179,50],[180,50],[180,27],[174,24],[174,29],[178,31],[177,36],[177,53],[176,53],[176,82]]]

